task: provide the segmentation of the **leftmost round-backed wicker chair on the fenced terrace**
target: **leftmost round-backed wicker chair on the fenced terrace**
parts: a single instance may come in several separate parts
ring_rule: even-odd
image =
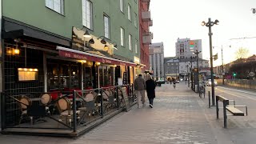
[[[22,115],[18,122],[18,124],[21,124],[23,118],[30,117],[27,113],[27,109],[28,109],[28,106],[32,105],[32,102],[31,102],[30,98],[28,98],[26,95],[21,95],[20,98],[18,98],[17,102],[18,102],[18,106],[22,112]],[[30,117],[30,124],[31,125],[33,124],[33,117]]]

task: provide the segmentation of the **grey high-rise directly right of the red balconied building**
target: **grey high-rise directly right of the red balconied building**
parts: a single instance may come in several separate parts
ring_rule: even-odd
[[[150,45],[150,66],[153,70],[154,79],[164,79],[164,46],[163,42]]]

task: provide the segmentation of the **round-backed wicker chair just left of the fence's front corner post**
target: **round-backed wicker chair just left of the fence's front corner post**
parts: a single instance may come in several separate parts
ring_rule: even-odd
[[[63,97],[60,98],[57,102],[57,107],[60,113],[58,121],[62,122],[62,118],[66,118],[66,125],[71,126],[71,122],[73,119],[73,110],[71,107],[71,102],[69,98]],[[77,116],[80,114],[80,110],[76,110]],[[79,117],[77,117],[79,118]]]

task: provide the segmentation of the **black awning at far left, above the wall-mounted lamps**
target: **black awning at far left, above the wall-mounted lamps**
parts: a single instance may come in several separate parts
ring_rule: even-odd
[[[34,26],[29,26],[25,23],[18,22],[6,17],[3,18],[2,23],[2,38],[4,39],[30,37],[41,39],[47,42],[54,42],[62,46],[70,46],[70,39],[47,32],[45,30],[40,30]]]

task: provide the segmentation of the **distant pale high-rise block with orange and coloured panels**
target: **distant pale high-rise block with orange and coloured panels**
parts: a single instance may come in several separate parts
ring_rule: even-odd
[[[198,58],[202,58],[202,40],[201,39],[194,39],[190,40],[190,38],[178,38],[177,42],[175,43],[176,47],[176,58],[183,59],[183,58],[190,58],[194,57],[194,51],[198,50],[201,51],[198,54]]]

